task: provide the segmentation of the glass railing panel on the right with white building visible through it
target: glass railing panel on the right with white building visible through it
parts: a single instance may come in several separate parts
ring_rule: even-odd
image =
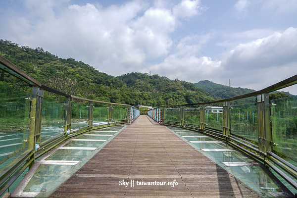
[[[205,106],[205,123],[207,128],[223,130],[223,103]]]

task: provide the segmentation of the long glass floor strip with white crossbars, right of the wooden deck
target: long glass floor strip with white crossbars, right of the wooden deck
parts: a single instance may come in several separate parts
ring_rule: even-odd
[[[187,134],[180,133],[181,131],[172,130],[173,133],[203,153],[213,162],[227,170],[234,175],[237,179],[241,180],[251,189],[256,191],[259,195],[265,198],[270,197],[288,197],[282,189],[274,182],[275,176],[268,175],[267,170],[264,170],[264,165],[248,157],[244,153],[238,151],[222,141],[218,141],[212,137],[207,138],[194,138],[182,136],[206,136],[203,133]],[[177,128],[174,128],[177,129]],[[190,141],[194,141],[191,143]],[[196,143],[195,143],[196,141]],[[199,143],[199,141],[201,141]],[[208,142],[203,142],[208,141]],[[209,141],[213,141],[210,143]],[[272,179],[273,177],[273,179]]]

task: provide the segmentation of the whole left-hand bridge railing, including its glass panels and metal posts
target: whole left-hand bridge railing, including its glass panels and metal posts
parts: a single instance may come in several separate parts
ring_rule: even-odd
[[[0,196],[37,158],[69,138],[130,124],[139,116],[128,104],[85,99],[42,85],[3,56],[0,69],[32,86],[28,94],[0,85]]]

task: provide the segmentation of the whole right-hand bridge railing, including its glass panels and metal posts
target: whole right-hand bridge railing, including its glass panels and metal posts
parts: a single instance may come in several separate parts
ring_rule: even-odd
[[[217,101],[165,105],[148,111],[160,124],[205,133],[274,170],[297,189],[297,97],[269,93],[297,84],[297,75],[260,91]]]

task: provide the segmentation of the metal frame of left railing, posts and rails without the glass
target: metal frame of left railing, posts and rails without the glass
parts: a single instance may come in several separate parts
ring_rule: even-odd
[[[105,102],[99,100],[85,99],[77,96],[72,96],[54,90],[48,86],[42,85],[36,79],[32,78],[26,72],[21,70],[19,67],[8,61],[6,58],[0,55],[0,69],[9,73],[10,75],[26,82],[32,86],[32,97],[30,100],[30,119],[29,124],[29,138],[26,139],[28,143],[28,149],[16,157],[12,162],[7,164],[4,168],[0,170],[0,196],[9,188],[9,186],[29,167],[33,166],[35,160],[41,157],[43,154],[48,152],[50,149],[57,147],[59,144],[65,142],[66,140],[87,133],[90,130],[101,129],[115,125],[121,124],[131,124],[138,116],[139,110],[128,105],[119,104],[112,102]],[[41,140],[41,125],[42,125],[42,107],[44,99],[44,91],[48,91],[59,96],[65,97],[65,108],[64,108],[64,126],[63,133],[53,136],[47,140]],[[88,101],[88,121],[87,126],[76,128],[72,130],[71,128],[71,110],[73,105],[73,99],[80,99]],[[102,104],[108,104],[107,113],[107,124],[93,126],[93,108],[94,102],[99,102]],[[113,105],[126,106],[126,119],[113,121],[112,118],[112,108]]]

